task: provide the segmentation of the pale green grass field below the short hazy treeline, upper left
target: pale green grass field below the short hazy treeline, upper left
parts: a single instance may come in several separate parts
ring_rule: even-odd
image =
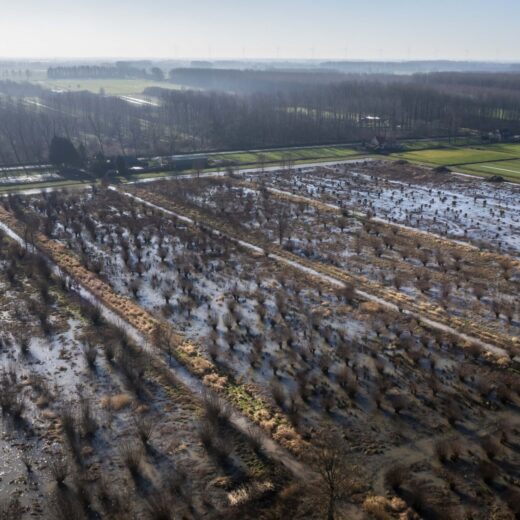
[[[44,88],[66,91],[88,90],[98,94],[101,89],[110,96],[131,96],[141,94],[147,87],[162,87],[169,89],[179,89],[179,85],[168,82],[147,81],[140,79],[44,79],[36,81]]]

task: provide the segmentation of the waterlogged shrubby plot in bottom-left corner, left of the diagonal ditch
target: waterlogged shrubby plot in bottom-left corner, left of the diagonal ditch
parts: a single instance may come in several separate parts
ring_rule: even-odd
[[[217,516],[274,489],[283,471],[212,415],[218,401],[161,370],[41,258],[3,233],[0,245],[5,518]]]

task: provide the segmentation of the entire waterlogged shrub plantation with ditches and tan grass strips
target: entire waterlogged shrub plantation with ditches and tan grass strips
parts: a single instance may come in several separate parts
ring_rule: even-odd
[[[349,475],[339,518],[384,511],[387,518],[484,520],[498,512],[513,519],[520,476],[517,190],[359,161],[4,198],[0,220],[28,249],[34,242],[119,316],[117,328],[71,292],[75,283],[48,274],[45,291],[44,267],[34,267],[44,264],[2,239],[9,245],[1,249],[0,276],[4,287],[14,284],[1,298],[4,366],[13,359],[25,366],[28,349],[38,370],[66,374],[69,385],[41,408],[55,421],[52,447],[57,460],[66,457],[65,485],[35,464],[46,491],[43,498],[25,491],[22,433],[5,437],[2,453],[20,479],[13,477],[10,490],[25,493],[20,507],[36,516],[40,507],[84,511],[86,494],[89,507],[104,511],[98,488],[76,480],[99,461],[114,486],[135,491],[126,502],[144,518],[157,518],[150,504],[159,496],[186,518],[248,518],[252,511],[251,518],[281,511],[309,518],[313,507],[323,510],[320,460],[331,449],[324,443],[332,443]],[[12,280],[18,270],[25,273],[20,288],[18,275]],[[48,293],[45,319],[37,304]],[[26,305],[36,331],[29,347],[13,318]],[[125,333],[125,323],[139,329],[141,322],[143,331],[160,324],[145,347]],[[55,323],[62,323],[60,339]],[[176,367],[205,391],[183,385]],[[16,377],[27,408],[18,412],[8,402],[2,424],[36,422],[32,380]],[[121,395],[129,404],[112,409]],[[94,434],[83,423],[67,433],[63,409],[83,413],[86,400]],[[285,464],[260,447],[257,434],[237,430],[228,407],[283,447]],[[161,425],[146,442],[141,417]],[[38,436],[24,442],[41,449]],[[139,448],[137,465],[119,448],[127,443]],[[304,482],[287,470],[293,459],[286,457],[303,464]],[[169,485],[166,474],[180,475],[182,486]]]

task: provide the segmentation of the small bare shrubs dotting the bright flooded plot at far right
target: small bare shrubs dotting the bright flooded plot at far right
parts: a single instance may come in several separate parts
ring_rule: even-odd
[[[458,234],[462,229],[463,238],[479,247],[509,252],[507,238],[514,233],[516,216],[515,207],[508,203],[508,198],[514,199],[514,189],[490,193],[478,181],[472,180],[471,184],[466,181],[466,186],[461,184],[462,196],[459,196],[442,189],[443,178],[435,175],[430,175],[427,184],[422,186],[426,170],[406,164],[407,161],[365,162],[356,165],[355,171],[346,168],[343,173],[333,175],[330,171],[320,171],[326,174],[325,177],[311,174],[303,179],[277,176],[271,182],[306,196],[331,200],[345,208],[359,208],[373,216],[390,218],[444,236]],[[433,172],[438,173],[438,168]],[[441,189],[436,188],[438,183]],[[395,216],[396,209],[401,213],[398,217]]]

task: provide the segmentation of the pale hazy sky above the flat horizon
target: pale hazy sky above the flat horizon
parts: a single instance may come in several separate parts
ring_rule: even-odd
[[[520,61],[520,0],[0,0],[0,56]]]

